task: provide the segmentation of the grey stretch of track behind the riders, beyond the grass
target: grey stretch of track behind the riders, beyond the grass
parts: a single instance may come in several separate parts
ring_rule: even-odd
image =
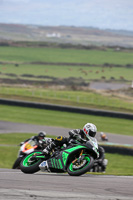
[[[71,128],[70,128],[71,129]],[[69,128],[52,127],[52,126],[41,126],[24,123],[14,123],[7,121],[0,121],[0,133],[33,133],[37,134],[39,131],[45,131],[47,135],[62,135],[68,136]],[[130,144],[133,145],[133,136],[125,136],[118,134],[106,133],[109,142],[119,144]],[[97,133],[97,140],[100,141],[100,136]]]

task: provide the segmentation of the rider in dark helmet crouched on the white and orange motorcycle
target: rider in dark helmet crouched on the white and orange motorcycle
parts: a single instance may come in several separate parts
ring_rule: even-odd
[[[44,148],[47,146],[47,144],[49,144],[49,142],[52,139],[46,138],[46,133],[44,131],[41,131],[38,133],[38,135],[32,136],[31,138],[28,138],[24,142],[21,142],[20,145],[23,145],[25,142],[28,142],[29,140],[34,140],[38,145],[38,148]]]

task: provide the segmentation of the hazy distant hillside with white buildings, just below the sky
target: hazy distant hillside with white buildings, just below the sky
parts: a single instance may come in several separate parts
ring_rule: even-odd
[[[133,47],[132,31],[91,27],[0,24],[0,39],[58,44]]]

